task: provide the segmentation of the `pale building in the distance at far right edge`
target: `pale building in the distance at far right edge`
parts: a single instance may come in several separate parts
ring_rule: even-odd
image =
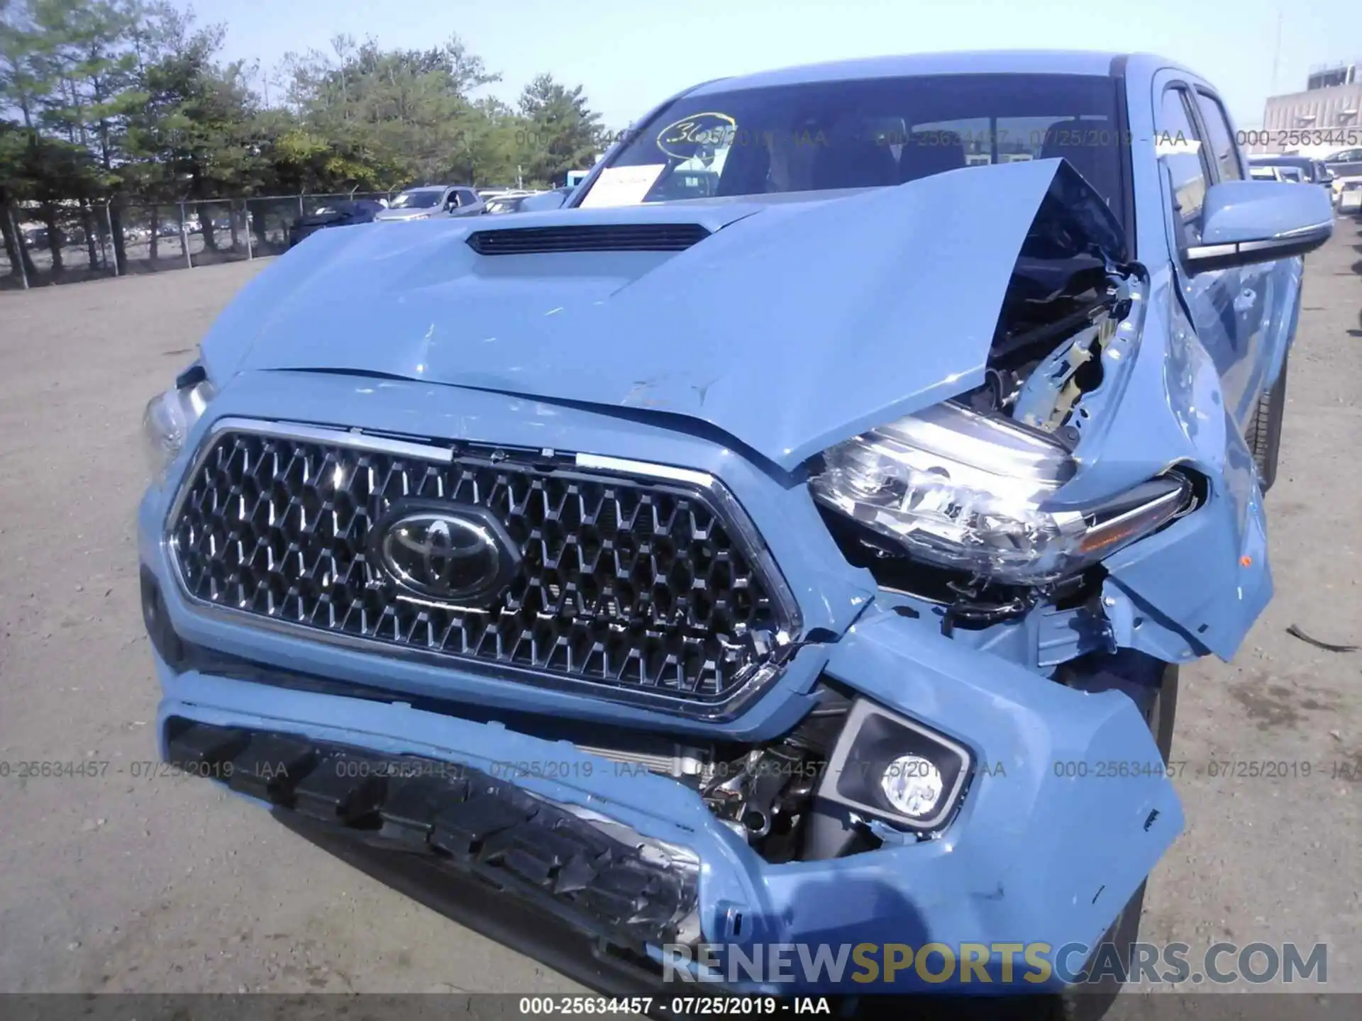
[[[1260,128],[1241,131],[1249,152],[1313,158],[1362,146],[1362,61],[1316,67],[1303,93],[1268,97]]]

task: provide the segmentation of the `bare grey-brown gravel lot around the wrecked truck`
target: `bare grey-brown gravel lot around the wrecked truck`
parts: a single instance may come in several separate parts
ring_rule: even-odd
[[[1144,935],[1204,949],[1329,943],[1362,991],[1362,237],[1310,257],[1278,487],[1278,595],[1233,664],[1182,677],[1188,830]],[[155,756],[136,596],[144,400],[264,261],[0,295],[0,761],[109,761],[0,777],[0,991],[569,991],[572,984],[351,871]],[[1309,777],[1209,777],[1212,760]],[[1354,780],[1331,777],[1350,764]],[[121,771],[121,773],[118,772]]]

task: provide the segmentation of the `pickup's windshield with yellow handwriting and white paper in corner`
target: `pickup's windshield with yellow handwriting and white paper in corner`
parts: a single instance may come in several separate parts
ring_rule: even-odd
[[[1065,157],[1120,218],[1117,88],[1084,75],[919,75],[684,95],[580,206],[896,185]]]

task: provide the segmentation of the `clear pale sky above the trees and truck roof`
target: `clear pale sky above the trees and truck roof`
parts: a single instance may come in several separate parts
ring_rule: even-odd
[[[189,0],[176,0],[189,5]],[[426,48],[459,33],[513,101],[535,74],[586,87],[609,128],[673,91],[725,75],[840,57],[951,49],[1152,50],[1223,91],[1258,124],[1310,67],[1362,59],[1357,0],[197,0],[227,26],[225,56],[274,67],[330,50],[336,33]],[[1280,50],[1278,49],[1278,14]],[[1348,14],[1351,11],[1351,15]],[[1348,23],[1351,20],[1351,25]],[[1280,53],[1273,86],[1273,54]]]

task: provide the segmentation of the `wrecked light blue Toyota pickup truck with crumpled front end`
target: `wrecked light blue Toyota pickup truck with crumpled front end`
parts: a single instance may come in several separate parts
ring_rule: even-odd
[[[1179,664],[1271,598],[1331,230],[1181,67],[974,53],[320,231],[147,407],[162,754],[601,990],[1072,990],[1182,828]]]

